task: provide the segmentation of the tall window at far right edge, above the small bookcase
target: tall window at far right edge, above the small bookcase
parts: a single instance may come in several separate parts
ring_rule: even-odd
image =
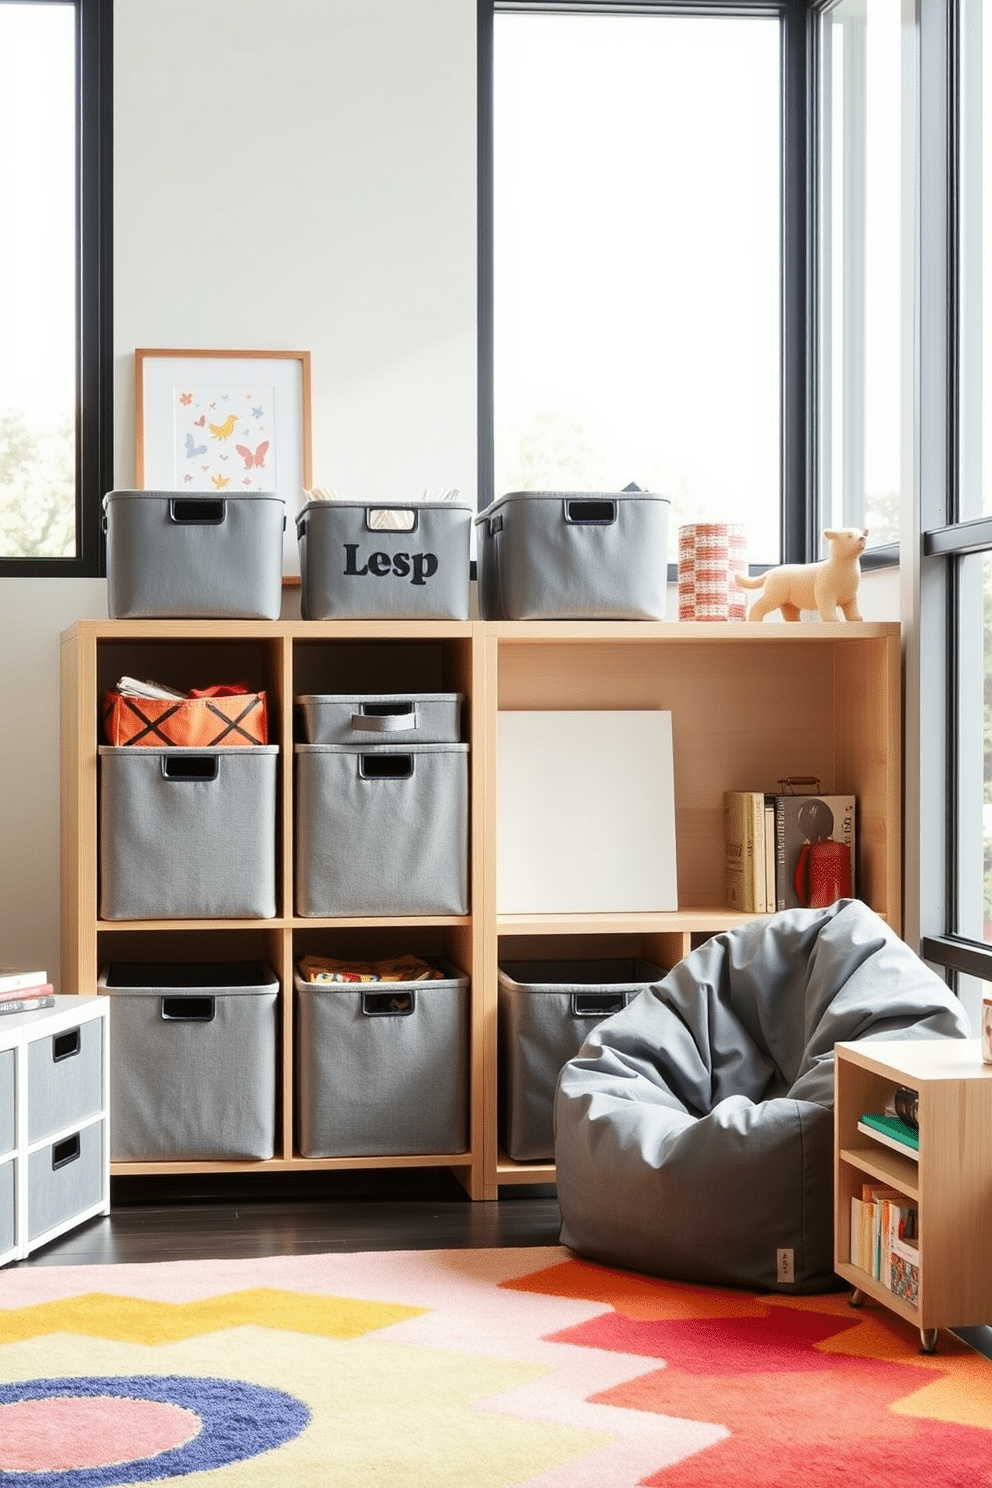
[[[924,79],[943,104],[924,190],[944,219],[924,314],[928,286],[943,286],[946,312],[940,423],[924,423],[943,481],[921,503],[921,622],[940,643],[919,668],[921,756],[930,745],[940,763],[921,771],[921,795],[922,833],[946,830],[921,875],[921,939],[977,1033],[992,982],[992,27],[982,0],[927,0],[922,21]]]

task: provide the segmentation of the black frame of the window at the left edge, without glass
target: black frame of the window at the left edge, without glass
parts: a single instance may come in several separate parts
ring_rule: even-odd
[[[76,554],[0,557],[0,577],[101,577],[113,485],[113,6],[76,12]]]

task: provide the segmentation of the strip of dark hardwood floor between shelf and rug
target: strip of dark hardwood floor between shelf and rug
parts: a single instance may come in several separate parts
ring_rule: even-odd
[[[113,1178],[112,1213],[21,1266],[556,1245],[553,1186],[473,1201],[448,1170]]]

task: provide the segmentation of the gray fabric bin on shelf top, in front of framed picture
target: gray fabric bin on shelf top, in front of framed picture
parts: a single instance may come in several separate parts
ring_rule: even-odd
[[[277,620],[286,501],[272,491],[110,491],[110,619]]]

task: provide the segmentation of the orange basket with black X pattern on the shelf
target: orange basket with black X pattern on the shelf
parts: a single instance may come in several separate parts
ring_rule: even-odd
[[[103,695],[107,744],[120,748],[245,748],[268,744],[263,692],[229,692],[198,698]]]

